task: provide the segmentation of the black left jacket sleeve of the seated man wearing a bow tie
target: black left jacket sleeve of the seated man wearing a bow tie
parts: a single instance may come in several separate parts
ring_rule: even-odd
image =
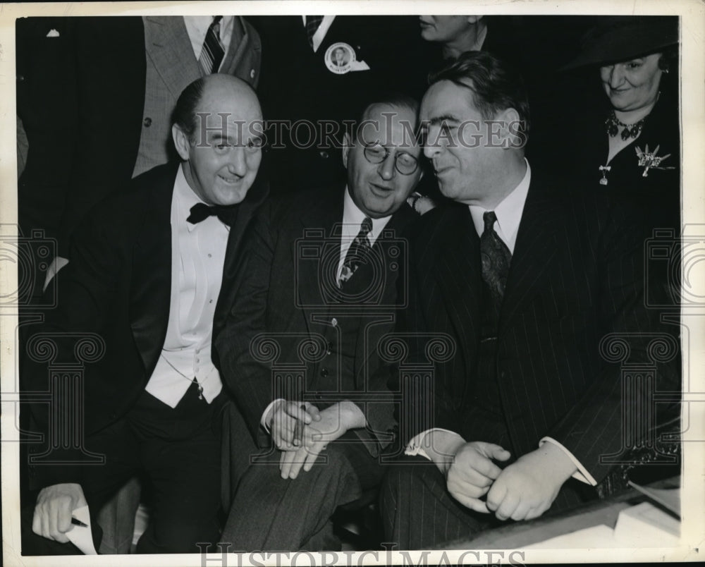
[[[71,248],[71,262],[57,274],[51,286],[58,286],[56,298],[58,304],[49,310],[43,324],[28,325],[23,335],[23,365],[21,371],[22,386],[25,394],[41,394],[53,392],[54,396],[62,396],[63,391],[52,391],[49,379],[49,365],[68,364],[75,368],[80,350],[89,355],[93,351],[97,359],[107,355],[107,345],[102,335],[106,326],[107,312],[114,303],[116,282],[128,273],[128,268],[122,261],[124,255],[119,252],[116,238],[111,234],[107,217],[98,215],[87,219],[76,233]],[[47,360],[47,354],[49,359]],[[94,377],[92,364],[86,362],[84,379],[100,381],[102,377]],[[84,398],[78,403],[91,404],[87,390],[90,384],[85,384]],[[94,389],[92,389],[94,391]],[[66,406],[68,404],[68,406]],[[80,462],[85,453],[83,447],[56,446],[52,427],[58,423],[56,417],[51,420],[50,406],[54,408],[73,408],[73,401],[68,398],[55,398],[50,403],[30,403],[32,430],[40,432],[44,443],[30,444],[30,457],[51,449],[50,458],[44,458],[44,464],[32,465],[30,461],[30,485],[41,488],[59,482],[80,483],[82,468]],[[91,408],[87,407],[83,415]],[[95,408],[92,408],[95,410]],[[62,416],[59,416],[62,417]],[[66,420],[71,416],[63,416]],[[84,430],[82,438],[90,433],[91,423],[82,423]],[[90,449],[90,448],[89,448]],[[63,461],[59,463],[59,461]]]

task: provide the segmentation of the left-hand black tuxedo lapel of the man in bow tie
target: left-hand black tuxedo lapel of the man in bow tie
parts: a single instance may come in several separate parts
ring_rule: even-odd
[[[130,327],[149,375],[164,345],[171,303],[171,195],[176,169],[164,166],[153,188],[133,252]]]

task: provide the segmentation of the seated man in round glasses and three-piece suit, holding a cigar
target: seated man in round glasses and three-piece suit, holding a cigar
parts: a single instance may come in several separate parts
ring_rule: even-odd
[[[422,174],[416,122],[414,99],[370,104],[345,135],[347,185],[272,200],[259,214],[216,338],[223,378],[269,448],[238,484],[221,537],[231,549],[339,549],[329,518],[381,480],[394,420],[386,381],[372,375],[405,301],[396,280],[400,231],[416,217],[406,200]]]

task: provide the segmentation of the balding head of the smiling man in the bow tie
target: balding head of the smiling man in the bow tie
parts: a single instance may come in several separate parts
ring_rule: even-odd
[[[257,177],[264,139],[262,110],[250,85],[208,75],[176,103],[173,135],[188,185],[207,205],[235,205]]]

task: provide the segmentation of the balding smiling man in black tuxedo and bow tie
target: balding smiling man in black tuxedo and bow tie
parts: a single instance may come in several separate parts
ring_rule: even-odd
[[[47,391],[47,363],[51,373],[78,358],[85,369],[78,390],[49,381],[51,403],[31,406],[46,442],[28,449],[39,494],[23,522],[25,553],[76,553],[66,542],[85,529],[72,514],[86,505],[97,549],[97,511],[140,471],[154,500],[138,552],[195,553],[217,538],[225,393],[211,338],[266,193],[255,183],[261,121],[247,83],[196,80],[174,111],[180,164],[138,176],[78,229],[57,276],[59,304],[26,341],[26,392]],[[82,430],[61,429],[71,420]]]

